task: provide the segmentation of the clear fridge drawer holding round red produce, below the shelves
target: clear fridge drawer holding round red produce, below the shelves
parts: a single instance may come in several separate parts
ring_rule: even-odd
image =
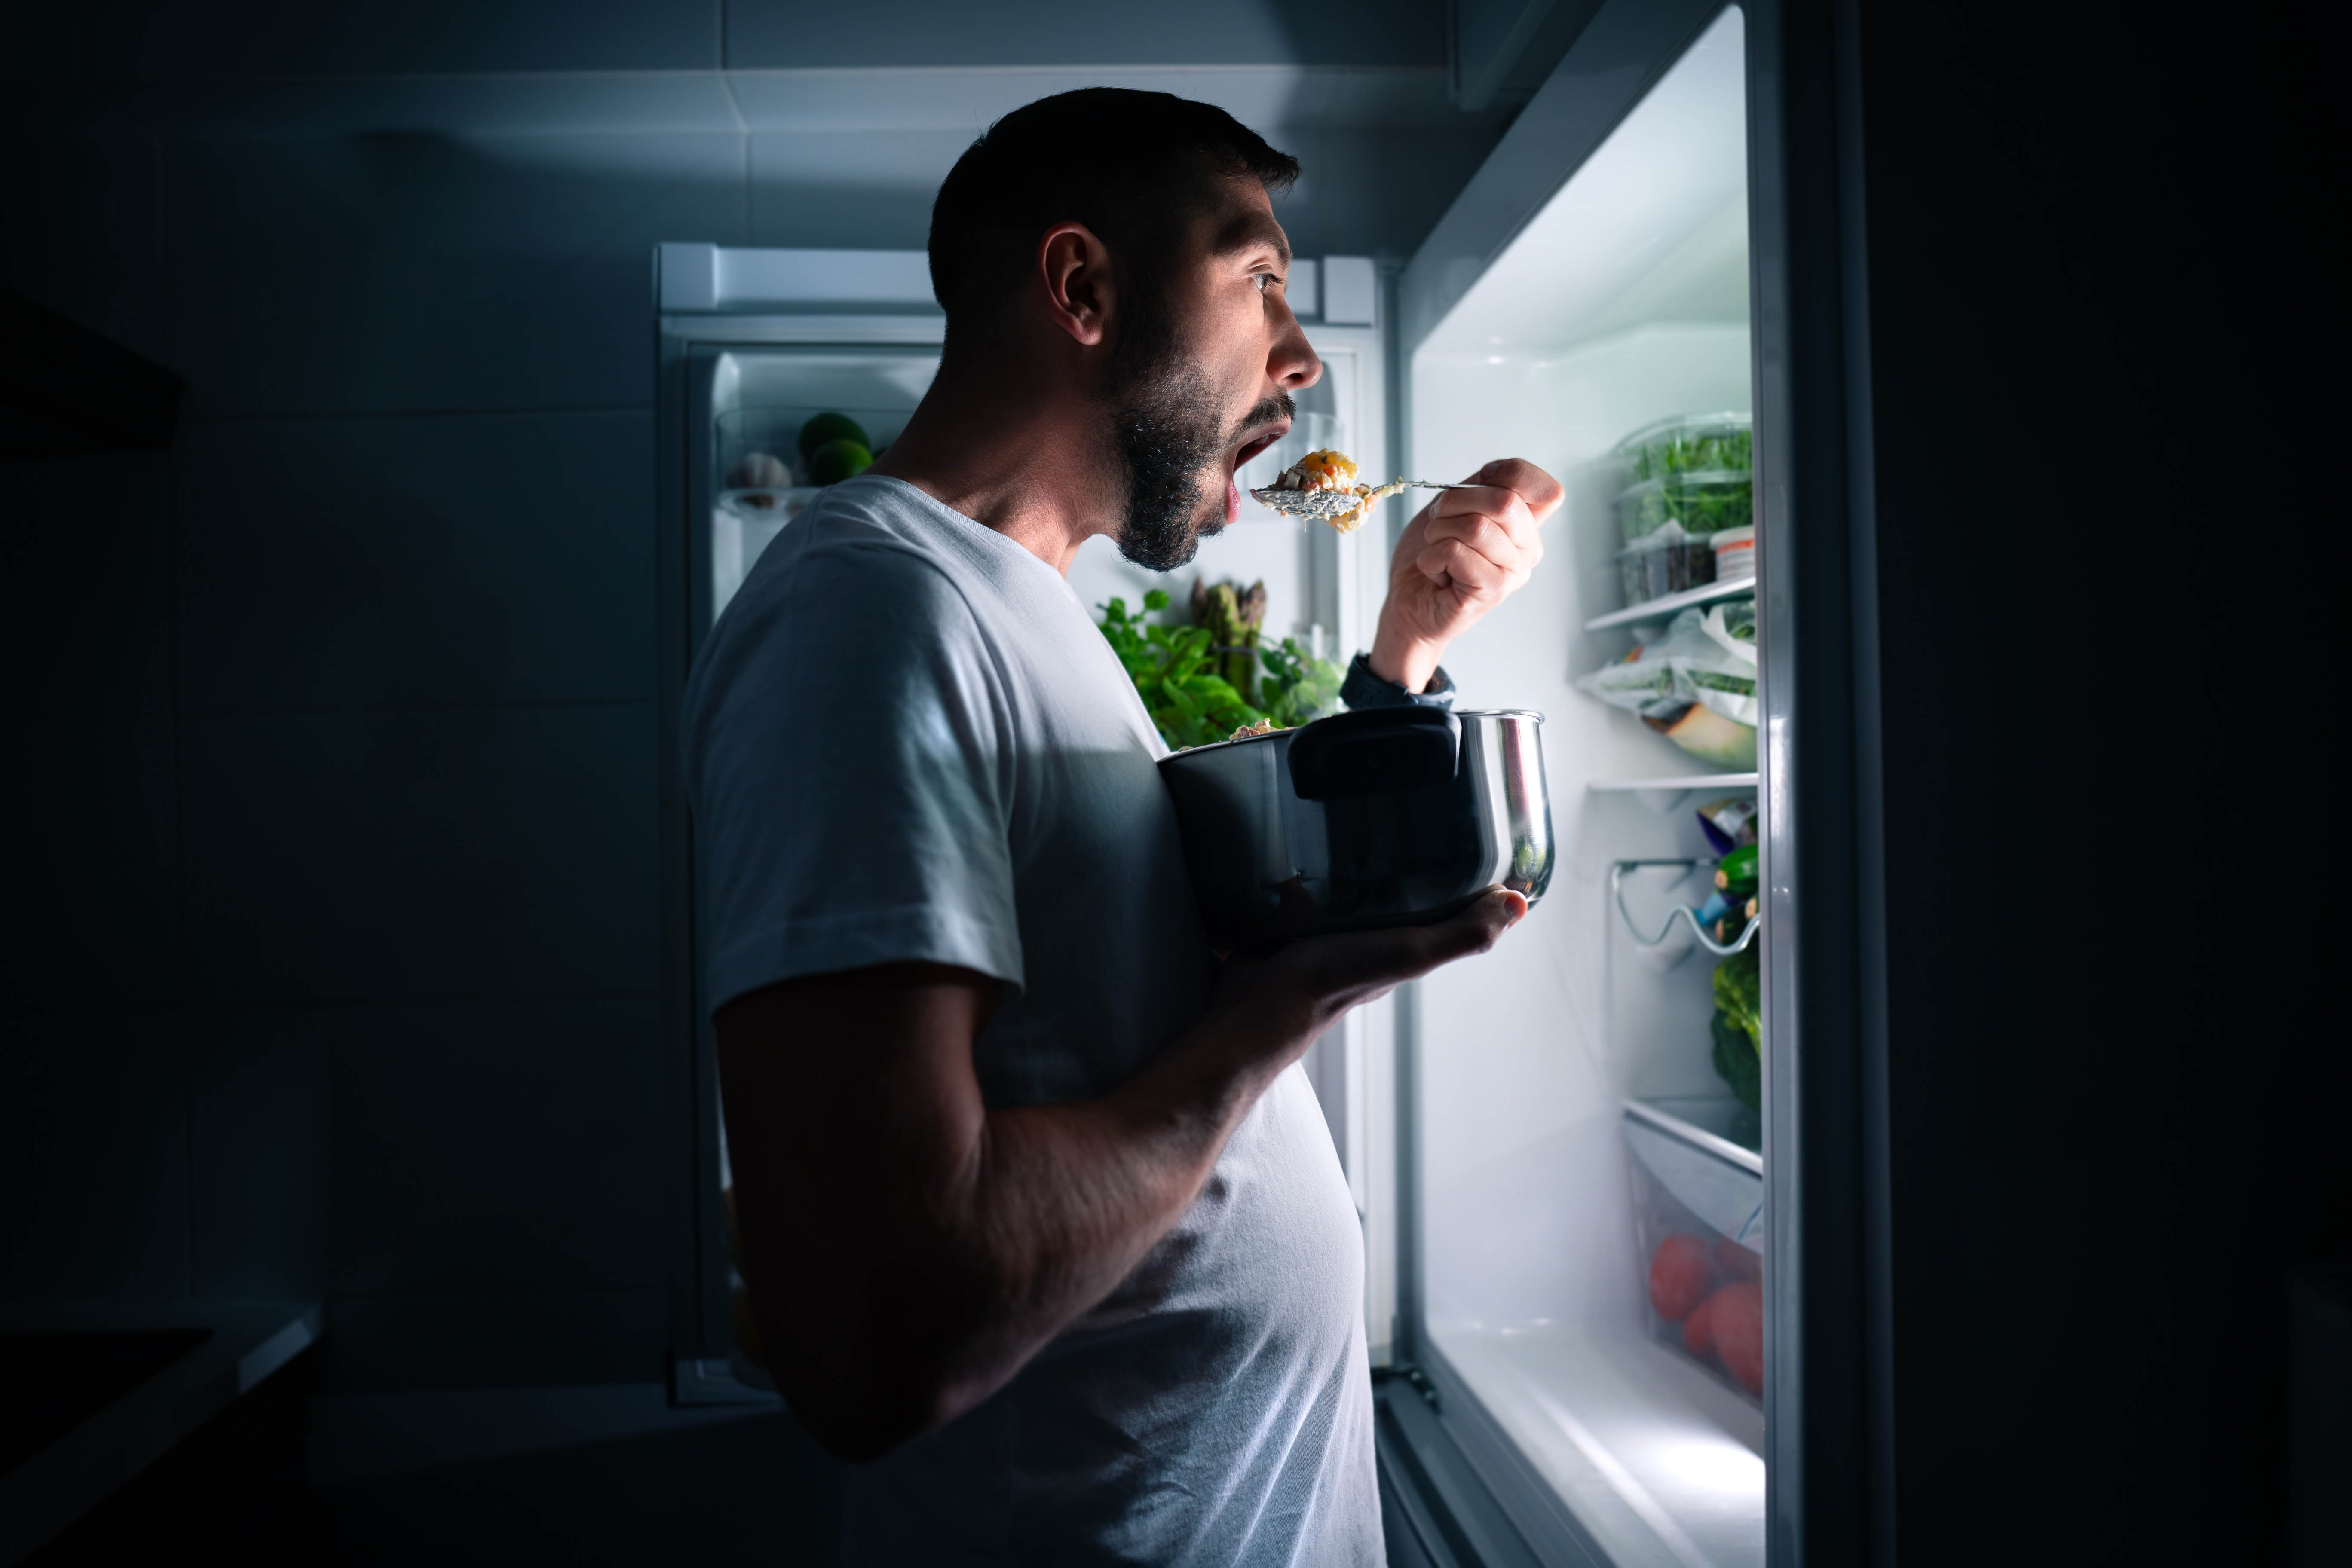
[[[1764,1396],[1764,1159],[1736,1100],[1630,1100],[1625,1150],[1651,1338]]]

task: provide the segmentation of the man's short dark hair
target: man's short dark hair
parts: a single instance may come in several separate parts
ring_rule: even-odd
[[[1216,181],[1244,176],[1279,195],[1298,160],[1214,103],[1080,87],[1016,108],[964,148],[931,202],[931,294],[948,339],[993,336],[1054,223],[1084,223],[1150,280]]]

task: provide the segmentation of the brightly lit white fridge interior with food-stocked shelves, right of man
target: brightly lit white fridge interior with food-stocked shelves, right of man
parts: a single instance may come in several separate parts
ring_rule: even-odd
[[[1748,96],[1740,7],[1604,7],[1399,287],[1404,468],[1566,484],[1446,656],[1545,715],[1559,872],[1414,987],[1399,1086],[1409,1425],[1538,1561],[1766,1561]]]

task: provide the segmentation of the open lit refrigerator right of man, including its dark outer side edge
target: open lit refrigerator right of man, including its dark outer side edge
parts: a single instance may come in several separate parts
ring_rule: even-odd
[[[1404,470],[1526,456],[1566,498],[1446,654],[1461,705],[1545,715],[1559,860],[1397,1006],[1392,1561],[1886,1528],[1849,106],[1790,85],[1835,42],[1785,28],[1599,7],[1395,282]]]

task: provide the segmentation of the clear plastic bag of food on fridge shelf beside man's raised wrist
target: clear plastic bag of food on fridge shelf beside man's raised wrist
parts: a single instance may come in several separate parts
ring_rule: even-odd
[[[1686,609],[1576,684],[1724,771],[1757,764],[1755,599]]]

